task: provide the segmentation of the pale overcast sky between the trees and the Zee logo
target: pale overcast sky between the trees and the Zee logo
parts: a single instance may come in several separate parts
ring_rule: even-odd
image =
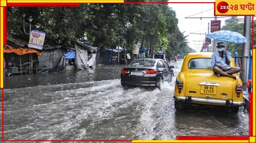
[[[170,0],[169,2],[215,2],[215,1],[203,1],[203,0],[171,1]],[[201,46],[203,46],[203,40],[205,39],[205,34],[191,34],[191,33],[208,33],[208,23],[210,23],[210,26],[211,26],[211,20],[214,20],[214,18],[200,19],[200,18],[185,18],[185,17],[214,17],[214,4],[170,3],[169,7],[176,12],[176,17],[178,18],[179,30],[181,32],[184,32],[184,35],[188,35],[188,37],[186,38],[188,41],[188,46],[195,49],[197,52],[200,52]],[[221,20],[221,26],[223,26],[225,25],[225,20],[228,18],[230,17],[226,17],[226,18],[217,17],[217,20]]]

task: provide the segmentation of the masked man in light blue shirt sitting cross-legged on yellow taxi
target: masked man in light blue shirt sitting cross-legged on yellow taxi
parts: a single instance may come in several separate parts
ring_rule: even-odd
[[[219,77],[220,75],[228,76],[237,80],[237,76],[234,76],[234,73],[241,71],[239,67],[230,67],[230,52],[225,51],[225,42],[217,42],[218,51],[212,54],[212,70]]]

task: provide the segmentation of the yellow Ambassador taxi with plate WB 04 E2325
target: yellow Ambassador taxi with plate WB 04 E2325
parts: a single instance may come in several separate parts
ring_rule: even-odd
[[[184,109],[187,103],[221,105],[238,112],[244,105],[242,81],[231,77],[217,77],[212,71],[213,53],[190,53],[184,58],[180,73],[177,75],[174,104],[176,109]],[[235,67],[231,57],[231,67]],[[233,74],[237,76],[237,74]]]

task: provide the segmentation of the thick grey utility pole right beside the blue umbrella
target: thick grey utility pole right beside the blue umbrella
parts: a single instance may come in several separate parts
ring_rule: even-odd
[[[251,16],[245,16],[244,20],[244,36],[250,40],[251,39]],[[246,70],[248,70],[249,64],[247,64],[247,59],[250,56],[250,42],[244,43],[244,51],[242,51],[242,71],[241,71],[241,77],[242,82],[244,83],[243,88],[246,89],[245,83],[246,83]]]

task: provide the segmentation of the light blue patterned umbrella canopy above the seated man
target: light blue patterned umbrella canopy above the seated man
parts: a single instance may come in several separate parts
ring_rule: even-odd
[[[235,43],[248,42],[248,40],[238,32],[220,30],[206,35],[207,38],[230,41]]]

